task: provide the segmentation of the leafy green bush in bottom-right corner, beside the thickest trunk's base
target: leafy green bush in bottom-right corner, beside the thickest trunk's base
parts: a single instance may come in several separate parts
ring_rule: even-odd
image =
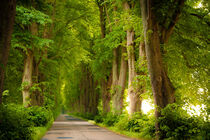
[[[209,131],[203,118],[190,116],[186,110],[176,104],[170,104],[161,111],[161,137],[170,139],[191,139]],[[206,130],[204,129],[206,128]],[[204,129],[204,130],[202,130]],[[208,135],[205,136],[206,138]],[[208,139],[208,138],[207,138]]]

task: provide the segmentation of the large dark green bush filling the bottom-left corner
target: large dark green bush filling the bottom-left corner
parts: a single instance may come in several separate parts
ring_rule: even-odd
[[[33,134],[26,108],[14,104],[0,107],[0,139],[30,140]]]

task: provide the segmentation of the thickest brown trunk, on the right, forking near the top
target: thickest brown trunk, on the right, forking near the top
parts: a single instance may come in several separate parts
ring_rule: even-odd
[[[173,32],[173,28],[178,21],[184,0],[174,0],[176,9],[173,11],[171,22],[165,28],[160,25],[155,15],[157,2],[155,0],[140,0],[141,14],[144,27],[144,40],[146,47],[146,56],[148,61],[148,70],[151,79],[154,103],[157,106],[155,116],[158,119],[161,116],[160,110],[168,104],[175,102],[175,89],[167,75],[167,70],[163,64],[160,44],[168,41]],[[167,20],[165,20],[167,21]],[[156,123],[156,136],[162,139],[158,122]]]

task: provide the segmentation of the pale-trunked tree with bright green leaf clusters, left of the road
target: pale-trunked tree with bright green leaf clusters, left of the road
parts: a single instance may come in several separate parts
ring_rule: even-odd
[[[13,47],[18,48],[25,58],[22,76],[22,94],[25,107],[31,105],[32,87],[37,88],[34,86],[37,84],[38,79],[39,65],[37,64],[41,63],[46,46],[49,46],[51,42],[44,36],[40,37],[40,34],[45,32],[41,29],[50,22],[51,19],[48,15],[33,7],[28,9],[23,6],[17,6],[16,26],[12,43]],[[37,58],[39,58],[38,61]]]

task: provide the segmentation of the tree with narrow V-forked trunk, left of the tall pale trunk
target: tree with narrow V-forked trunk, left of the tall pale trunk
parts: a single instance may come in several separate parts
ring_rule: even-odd
[[[114,3],[114,25],[119,26],[120,23],[117,20],[117,6]],[[109,16],[107,15],[107,18]],[[119,26],[120,27],[120,26]],[[116,31],[112,27],[110,27],[111,34],[119,34],[118,30],[122,30],[122,28],[117,28]],[[123,32],[123,30],[122,30]],[[114,39],[112,37],[112,39]],[[118,41],[122,42],[124,40],[123,36],[117,38]],[[120,44],[120,43],[119,43]],[[116,45],[113,48],[113,59],[112,59],[112,103],[113,103],[113,111],[115,114],[121,114],[123,109],[123,95],[126,87],[126,78],[127,78],[127,69],[128,62],[125,57],[126,48],[123,45]]]

